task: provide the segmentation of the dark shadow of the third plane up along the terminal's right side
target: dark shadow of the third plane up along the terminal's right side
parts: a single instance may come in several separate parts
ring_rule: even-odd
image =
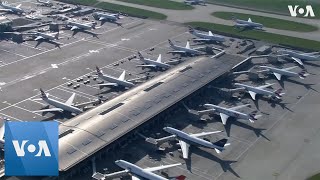
[[[255,128],[255,127],[252,127],[246,123],[243,123],[243,122],[240,122],[232,117],[230,117],[226,123],[226,125],[224,126],[225,128],[225,131],[226,131],[226,134],[228,137],[230,137],[230,131],[231,131],[231,125],[236,125],[238,127],[242,127],[244,129],[248,129],[248,130],[251,130],[255,133],[255,135],[257,137],[263,137],[265,138],[266,140],[270,141],[269,138],[267,138],[264,134],[262,134],[262,131],[264,130],[267,130],[267,129],[264,129],[264,128]]]

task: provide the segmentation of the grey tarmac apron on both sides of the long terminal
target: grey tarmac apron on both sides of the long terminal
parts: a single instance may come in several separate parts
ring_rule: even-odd
[[[72,118],[71,114],[39,114],[32,111],[46,106],[39,98],[39,88],[43,88],[50,97],[66,101],[72,93],[76,93],[75,103],[81,103],[102,95],[111,100],[124,91],[114,91],[93,87],[99,80],[93,80],[88,75],[94,74],[95,66],[102,68],[104,73],[118,76],[123,70],[128,73],[127,78],[156,77],[162,72],[149,71],[137,68],[140,64],[137,59],[128,60],[137,51],[145,56],[156,58],[162,54],[164,61],[179,59],[178,56],[167,54],[169,50],[167,39],[172,39],[180,45],[185,45],[192,36],[187,28],[176,23],[156,22],[132,17],[121,19],[123,27],[106,23],[94,30],[102,33],[98,38],[79,32],[74,38],[71,32],[63,30],[58,40],[64,43],[60,49],[52,44],[42,43],[35,47],[35,42],[15,44],[10,41],[0,42],[0,115],[9,120],[43,121],[56,120],[66,122]],[[227,53],[236,54],[236,48],[241,40],[226,43]],[[255,42],[257,47],[263,42]],[[196,46],[192,44],[192,46]],[[214,45],[216,46],[216,45]],[[221,46],[217,46],[221,48]],[[151,50],[154,48],[154,50]],[[273,49],[276,50],[276,49]],[[248,53],[239,54],[245,59]],[[181,58],[181,61],[191,61],[191,58]],[[273,64],[267,58],[252,60],[254,65],[274,65],[289,67],[296,65],[281,60]],[[252,65],[245,66],[248,70]],[[317,172],[320,167],[319,150],[319,62],[306,63],[310,76],[306,79],[289,78],[279,83],[273,76],[266,76],[263,81],[251,81],[246,76],[236,77],[237,81],[260,85],[275,83],[273,89],[283,88],[286,93],[281,102],[269,101],[259,97],[254,103],[248,94],[239,94],[236,98],[226,99],[212,88],[232,88],[234,77],[228,76],[219,82],[213,82],[201,96],[190,97],[186,104],[193,109],[202,110],[202,104],[214,103],[221,106],[251,104],[243,112],[250,113],[259,110],[262,117],[251,124],[243,120],[229,119],[224,127],[218,116],[208,117],[207,122],[199,122],[191,118],[183,108],[171,115],[171,118],[159,124],[158,127],[142,132],[145,136],[163,137],[163,126],[170,125],[188,133],[224,130],[218,135],[207,137],[210,141],[229,138],[230,146],[220,155],[214,150],[192,147],[190,159],[181,158],[178,146],[173,143],[163,145],[164,152],[157,151],[156,147],[146,143],[142,138],[126,144],[117,151],[110,153],[101,161],[96,161],[97,171],[110,173],[120,170],[114,161],[124,159],[141,167],[158,166],[182,162],[183,165],[162,172],[162,175],[173,177],[183,174],[187,179],[305,179]],[[299,71],[299,68],[295,69]],[[83,84],[77,79],[90,80]],[[80,87],[74,89],[73,85]],[[159,134],[158,134],[159,133]],[[132,153],[134,152],[134,154]],[[105,169],[108,168],[108,169]],[[105,169],[105,170],[103,170]],[[82,169],[80,175],[74,179],[90,179],[92,167],[88,165]],[[20,179],[9,177],[6,179]],[[21,178],[23,179],[23,178]],[[32,179],[32,178],[30,178]],[[37,178],[33,178],[37,179]]]

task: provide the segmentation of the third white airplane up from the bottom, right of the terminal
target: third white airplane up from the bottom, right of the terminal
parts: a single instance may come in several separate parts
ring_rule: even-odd
[[[254,111],[250,114],[246,114],[246,113],[242,113],[242,112],[237,111],[238,109],[248,107],[248,106],[250,106],[250,104],[226,108],[226,107],[221,107],[221,106],[217,106],[214,104],[204,104],[204,107],[207,110],[198,111],[198,113],[203,115],[203,114],[211,114],[211,113],[217,112],[217,113],[219,113],[219,115],[221,117],[221,121],[222,121],[223,125],[226,125],[229,117],[235,117],[237,119],[249,120],[251,123],[253,123],[259,117],[261,117],[261,115],[256,115],[256,111]]]

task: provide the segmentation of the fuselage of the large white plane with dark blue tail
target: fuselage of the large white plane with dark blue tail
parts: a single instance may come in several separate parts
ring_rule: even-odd
[[[182,131],[179,131],[174,128],[166,127],[166,128],[164,128],[164,130],[170,134],[175,135],[177,139],[181,139],[181,140],[187,142],[188,144],[194,144],[197,146],[200,145],[200,146],[211,148],[211,149],[220,149],[220,150],[223,149],[223,148],[218,147],[209,141],[206,141],[206,140],[203,140],[203,139],[200,139],[197,137],[192,137],[189,134],[182,132]]]

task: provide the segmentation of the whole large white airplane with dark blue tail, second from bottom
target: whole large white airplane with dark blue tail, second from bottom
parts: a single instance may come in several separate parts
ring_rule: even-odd
[[[172,127],[164,127],[164,131],[172,134],[171,136],[163,137],[161,139],[153,139],[153,138],[147,138],[146,141],[152,144],[162,144],[164,142],[170,141],[170,140],[179,140],[179,145],[182,150],[182,156],[184,159],[188,159],[189,157],[189,147],[191,144],[203,146],[206,148],[214,149],[218,154],[221,153],[225,148],[225,146],[229,145],[227,143],[227,139],[221,139],[217,142],[209,142],[206,140],[201,139],[202,136],[207,136],[211,134],[220,133],[222,131],[213,131],[213,132],[202,132],[197,134],[187,134],[183,131],[180,131],[178,129],[172,128]]]

